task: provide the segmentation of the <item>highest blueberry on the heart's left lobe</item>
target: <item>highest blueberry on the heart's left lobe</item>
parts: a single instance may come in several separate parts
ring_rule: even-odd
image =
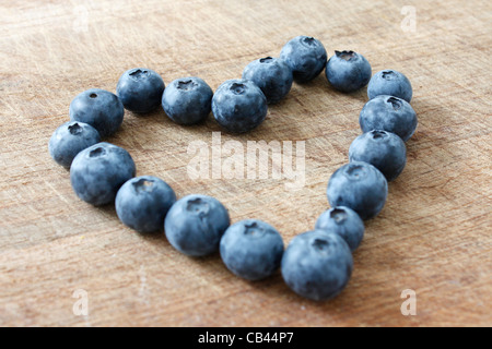
[[[164,88],[164,81],[156,72],[145,68],[134,68],[119,77],[116,94],[126,109],[145,113],[161,105]]]

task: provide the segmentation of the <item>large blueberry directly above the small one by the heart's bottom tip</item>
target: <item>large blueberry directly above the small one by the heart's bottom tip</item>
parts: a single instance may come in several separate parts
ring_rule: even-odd
[[[326,193],[331,207],[347,206],[365,220],[383,209],[388,195],[388,182],[374,166],[352,161],[335,171]]]

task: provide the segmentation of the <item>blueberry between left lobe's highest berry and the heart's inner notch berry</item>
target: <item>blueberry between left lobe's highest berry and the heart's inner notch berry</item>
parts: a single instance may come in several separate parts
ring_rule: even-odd
[[[162,107],[171,120],[194,124],[209,116],[212,96],[212,88],[200,77],[177,79],[164,91]]]

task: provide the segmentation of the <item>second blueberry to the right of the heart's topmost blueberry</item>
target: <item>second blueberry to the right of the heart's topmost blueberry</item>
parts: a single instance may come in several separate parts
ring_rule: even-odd
[[[371,77],[367,86],[367,97],[373,99],[376,96],[395,96],[410,103],[412,99],[412,85],[402,73],[396,70],[382,70]]]

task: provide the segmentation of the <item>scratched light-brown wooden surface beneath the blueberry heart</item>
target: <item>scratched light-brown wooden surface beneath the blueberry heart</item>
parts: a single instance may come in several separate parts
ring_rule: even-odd
[[[403,5],[417,11],[405,33]],[[2,326],[430,326],[492,325],[491,47],[488,1],[3,1],[0,4],[0,325]],[[219,255],[189,258],[164,236],[124,227],[109,205],[75,197],[69,172],[49,157],[52,131],[90,87],[115,92],[119,75],[147,67],[172,80],[198,75],[212,88],[251,60],[278,56],[296,35],[329,51],[363,53],[373,72],[412,82],[419,117],[408,165],[366,225],[353,277],[326,303],[291,292],[280,274],[234,277]],[[211,146],[212,117],[199,127],[162,111],[127,112],[112,139],[138,174],[166,180],[178,196],[222,201],[233,221],[277,227],[288,243],[327,208],[330,174],[360,134],[365,91],[343,95],[320,75],[294,85],[256,131],[222,142],[305,141],[305,185],[286,180],[190,180],[187,146]],[[225,155],[223,155],[225,157]],[[75,316],[75,290],[89,315]],[[401,291],[417,292],[403,316]]]

